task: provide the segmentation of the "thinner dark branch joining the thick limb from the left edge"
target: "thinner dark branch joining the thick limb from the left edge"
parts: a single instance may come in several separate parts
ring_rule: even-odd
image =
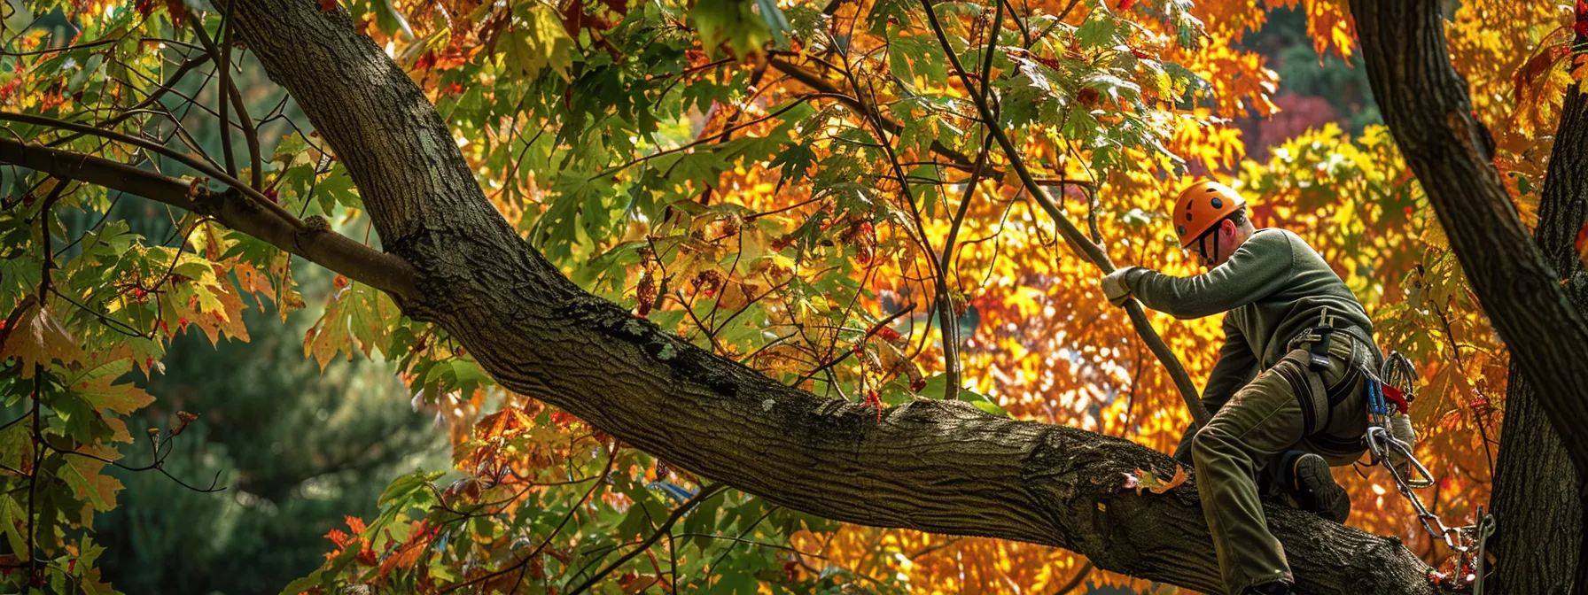
[[[225,227],[264,240],[394,297],[418,297],[413,267],[408,267],[402,259],[332,230],[302,228],[300,222],[283,221],[276,213],[262,209],[235,192],[214,194],[202,187],[195,190],[184,179],[110,159],[52,149],[37,143],[21,143],[6,136],[0,136],[0,163],[103,186],[205,214]]]

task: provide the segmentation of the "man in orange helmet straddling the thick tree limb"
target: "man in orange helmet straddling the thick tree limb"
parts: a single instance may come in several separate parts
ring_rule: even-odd
[[[1126,267],[1102,279],[1115,305],[1132,295],[1189,319],[1224,314],[1224,346],[1204,400],[1216,411],[1188,432],[1202,512],[1231,593],[1289,593],[1285,551],[1269,533],[1259,478],[1296,503],[1343,522],[1350,497],[1329,465],[1366,449],[1367,370],[1377,367],[1372,322],[1339,274],[1286,230],[1253,228],[1245,200],[1201,181],[1172,213],[1185,249],[1208,267],[1174,278]],[[1185,459],[1181,443],[1177,459]]]

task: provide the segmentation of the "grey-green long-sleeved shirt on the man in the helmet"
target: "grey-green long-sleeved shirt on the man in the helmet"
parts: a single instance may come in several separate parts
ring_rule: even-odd
[[[1318,325],[1324,308],[1367,338],[1374,332],[1345,281],[1307,241],[1280,228],[1258,230],[1204,274],[1175,278],[1135,268],[1124,281],[1142,305],[1174,317],[1226,313],[1224,347],[1204,390],[1210,408],[1285,357],[1285,344]]]

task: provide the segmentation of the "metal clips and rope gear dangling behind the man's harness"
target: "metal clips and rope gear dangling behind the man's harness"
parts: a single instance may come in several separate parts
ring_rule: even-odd
[[[1494,516],[1485,514],[1483,506],[1478,506],[1478,522],[1475,525],[1448,527],[1439,514],[1429,512],[1428,506],[1423,505],[1423,498],[1413,489],[1434,486],[1434,476],[1416,460],[1412,444],[1397,440],[1394,432],[1391,432],[1394,424],[1405,424],[1405,432],[1410,432],[1405,405],[1410,405],[1416,398],[1415,381],[1416,368],[1412,367],[1412,362],[1405,355],[1394,351],[1385,359],[1378,376],[1369,374],[1367,451],[1372,452],[1372,463],[1390,470],[1396,490],[1416,509],[1416,519],[1423,524],[1423,530],[1434,539],[1443,539],[1445,546],[1456,552],[1459,557],[1458,568],[1463,571],[1467,568],[1472,570],[1470,574],[1461,578],[1464,582],[1472,584],[1472,593],[1483,595],[1485,547],[1488,546],[1488,536],[1494,533]],[[1390,389],[1390,395],[1385,393],[1386,387]],[[1399,416],[1394,416],[1394,413],[1399,413]],[[1404,468],[1396,460],[1404,462]]]

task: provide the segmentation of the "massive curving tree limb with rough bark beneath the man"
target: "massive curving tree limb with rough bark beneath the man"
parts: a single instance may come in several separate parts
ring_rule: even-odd
[[[769,501],[829,519],[1077,551],[1099,568],[1220,592],[1191,484],[1123,489],[1162,454],[967,403],[872,409],[719,359],[564,278],[484,198],[445,122],[346,13],[238,0],[237,25],[346,163],[383,246],[411,263],[403,311],[461,341],[502,386]],[[1269,522],[1302,593],[1432,593],[1380,538],[1286,508]]]

